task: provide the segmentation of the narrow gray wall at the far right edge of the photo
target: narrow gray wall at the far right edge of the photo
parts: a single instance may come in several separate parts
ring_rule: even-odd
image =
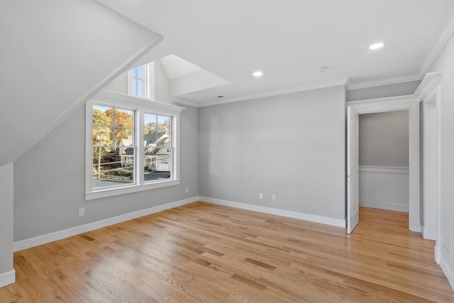
[[[429,72],[443,71],[441,78],[441,231],[454,243],[454,35],[441,50]],[[452,246],[451,246],[452,247]],[[454,252],[451,252],[451,256]],[[454,286],[454,258],[441,248],[441,258],[451,272]],[[448,275],[448,272],[446,272]]]

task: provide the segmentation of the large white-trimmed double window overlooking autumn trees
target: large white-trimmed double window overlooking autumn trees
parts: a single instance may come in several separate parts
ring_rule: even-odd
[[[87,102],[86,199],[179,184],[182,109],[107,91]]]

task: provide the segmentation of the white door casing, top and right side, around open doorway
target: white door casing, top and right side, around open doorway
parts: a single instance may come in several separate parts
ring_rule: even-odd
[[[409,112],[409,229],[421,232],[420,158],[419,158],[419,101],[415,95],[386,97],[346,102],[358,114]],[[347,155],[349,157],[350,155]]]

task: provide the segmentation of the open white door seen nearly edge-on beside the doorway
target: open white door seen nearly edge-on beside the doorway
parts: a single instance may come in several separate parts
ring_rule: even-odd
[[[353,228],[360,221],[359,205],[359,121],[358,111],[347,108],[347,233],[351,233]]]

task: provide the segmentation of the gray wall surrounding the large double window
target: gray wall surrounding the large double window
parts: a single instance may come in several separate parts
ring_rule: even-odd
[[[185,107],[179,186],[89,202],[84,200],[85,112],[79,108],[14,163],[14,241],[198,196],[198,109]],[[82,207],[85,216],[78,214]]]

